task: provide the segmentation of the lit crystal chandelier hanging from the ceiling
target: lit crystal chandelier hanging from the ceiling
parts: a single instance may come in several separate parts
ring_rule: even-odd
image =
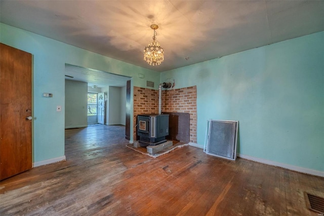
[[[159,65],[164,61],[164,50],[160,47],[160,43],[156,41],[155,29],[158,28],[158,25],[152,24],[151,28],[154,30],[153,40],[144,49],[144,61],[149,65]]]

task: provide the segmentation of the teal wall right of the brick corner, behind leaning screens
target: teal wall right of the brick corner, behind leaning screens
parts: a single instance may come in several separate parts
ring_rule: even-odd
[[[208,119],[238,120],[238,153],[324,171],[324,32],[166,71],[197,86],[197,142]]]

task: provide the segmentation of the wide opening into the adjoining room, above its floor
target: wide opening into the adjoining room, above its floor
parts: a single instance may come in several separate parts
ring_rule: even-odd
[[[66,63],[65,128],[127,125],[130,134],[131,78]]]

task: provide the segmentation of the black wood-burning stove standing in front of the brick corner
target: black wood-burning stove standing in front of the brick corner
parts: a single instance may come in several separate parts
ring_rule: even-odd
[[[143,114],[137,116],[137,135],[140,146],[156,146],[167,141],[169,115]]]

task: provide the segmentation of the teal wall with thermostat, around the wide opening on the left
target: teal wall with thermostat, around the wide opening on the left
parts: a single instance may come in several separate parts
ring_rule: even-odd
[[[33,55],[34,163],[64,156],[65,63],[132,77],[132,87],[146,87],[146,80],[154,83],[160,80],[160,73],[153,70],[79,49],[3,23],[0,23],[0,32],[1,43]],[[145,79],[138,78],[138,74],[143,74]],[[53,97],[42,97],[44,92],[52,93]],[[132,98],[131,100],[133,101]],[[62,106],[62,112],[56,112],[57,105]]]

